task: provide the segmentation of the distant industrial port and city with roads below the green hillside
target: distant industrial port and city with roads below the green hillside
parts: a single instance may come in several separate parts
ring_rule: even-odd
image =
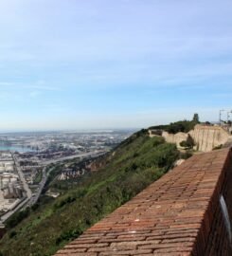
[[[104,155],[132,131],[91,131],[59,133],[20,133],[0,135],[0,232],[18,210],[35,205],[49,174],[60,163]],[[64,164],[60,180],[79,177],[88,167]],[[48,195],[57,197],[54,192]]]

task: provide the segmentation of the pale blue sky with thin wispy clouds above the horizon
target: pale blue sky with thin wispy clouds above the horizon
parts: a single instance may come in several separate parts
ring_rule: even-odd
[[[231,0],[1,0],[0,131],[213,121],[220,109],[225,119],[231,9]]]

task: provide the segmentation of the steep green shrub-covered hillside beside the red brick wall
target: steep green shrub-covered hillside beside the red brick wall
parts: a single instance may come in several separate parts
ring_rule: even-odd
[[[178,156],[175,145],[162,137],[151,138],[146,130],[134,134],[101,159],[104,166],[98,172],[83,177],[57,199],[44,196],[38,206],[20,213],[20,219],[11,218],[0,255],[53,255],[167,173]],[[55,168],[54,172],[58,173]]]

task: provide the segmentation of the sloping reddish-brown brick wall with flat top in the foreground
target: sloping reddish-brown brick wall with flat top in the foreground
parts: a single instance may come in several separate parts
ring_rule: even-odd
[[[56,256],[209,255],[230,157],[229,149],[193,155]]]

